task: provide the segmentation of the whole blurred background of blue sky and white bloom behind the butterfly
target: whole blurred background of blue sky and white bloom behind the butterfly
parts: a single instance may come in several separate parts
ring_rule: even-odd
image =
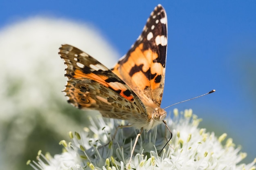
[[[111,67],[141,33],[154,7],[168,16],[162,107],[176,105],[203,119],[201,128],[226,132],[256,157],[256,1],[0,2],[0,169],[31,169],[38,150],[61,152],[67,132],[86,126],[67,104],[61,44],[72,44]],[[173,107],[174,108],[174,107]],[[173,108],[168,108],[171,113]]]

